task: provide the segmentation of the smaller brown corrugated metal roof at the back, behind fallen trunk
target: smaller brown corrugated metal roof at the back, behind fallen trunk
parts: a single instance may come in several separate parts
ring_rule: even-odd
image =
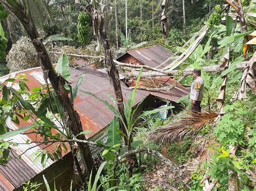
[[[119,56],[117,58],[117,61],[122,62],[122,60],[127,55],[133,56],[140,62],[144,63],[144,65],[157,67],[161,63],[169,59],[173,55],[173,53],[161,45],[155,45],[155,46],[149,46],[149,47],[140,48],[140,49],[134,49],[132,51],[127,51],[123,55]],[[173,60],[169,60],[163,66],[160,66],[159,69],[162,69],[170,65],[172,61]]]

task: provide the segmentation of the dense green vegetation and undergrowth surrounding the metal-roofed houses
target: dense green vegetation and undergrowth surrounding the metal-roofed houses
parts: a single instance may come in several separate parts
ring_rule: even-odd
[[[169,1],[167,8],[169,34],[167,36],[161,33],[160,17],[163,1],[106,0],[102,1],[107,5],[104,10],[97,1],[93,1],[90,6],[89,2],[84,0],[76,3],[72,0],[23,0],[23,4],[14,0],[7,0],[7,4],[4,4],[5,1],[0,2],[4,5],[3,9],[7,6],[13,8],[6,9],[9,11],[9,17],[6,18],[5,14],[1,18],[3,30],[0,30],[0,35],[4,39],[1,50],[6,51],[8,55],[0,60],[0,76],[39,66],[44,58],[37,57],[38,49],[42,50],[45,47],[45,51],[60,54],[60,57],[52,53],[49,56],[52,62],[58,62],[55,72],[51,62],[48,61],[48,55],[43,52],[48,59],[44,60],[42,65],[43,68],[50,68],[48,72],[50,71],[51,75],[46,78],[50,80],[52,87],[34,87],[30,90],[24,75],[5,80],[5,82],[18,82],[18,90],[0,83],[2,96],[0,99],[0,165],[6,165],[10,160],[22,157],[11,154],[12,149],[21,144],[13,142],[11,137],[32,129],[38,136],[43,137],[43,141],[37,144],[60,143],[56,146],[55,153],[38,150],[32,154],[31,157],[35,157],[34,162],[40,160],[42,166],[45,166],[49,159],[62,158],[62,150],[68,150],[64,143],[69,144],[75,159],[77,148],[74,149],[74,142],[77,143],[79,150],[83,151],[82,153],[86,153],[81,155],[88,177],[85,179],[83,174],[79,174],[81,186],[75,185],[77,189],[202,190],[207,183],[212,186],[211,190],[254,189],[255,87],[243,82],[242,76],[249,74],[246,70],[242,70],[243,68],[237,67],[241,62],[246,62],[248,68],[253,69],[249,66],[249,60],[255,57],[253,55],[255,47],[246,46],[245,43],[252,38],[248,34],[255,30],[255,23],[249,22],[255,18],[246,15],[248,12],[256,12],[254,0],[242,1],[243,6],[240,1],[235,2],[236,4],[232,4],[232,1],[217,0]],[[230,6],[224,5],[227,3]],[[239,20],[233,19],[228,13],[224,15],[223,8],[229,13],[237,11],[232,10],[232,6],[233,8],[237,6],[239,10],[242,8],[246,17],[239,15]],[[17,18],[15,15],[20,17]],[[104,17],[104,28],[99,25],[99,17],[102,19]],[[26,25],[29,21],[34,22],[35,25]],[[206,27],[205,25],[207,25],[206,36],[191,55],[176,67],[178,70],[174,71],[174,76],[184,86],[190,86],[192,76],[185,75],[184,71],[187,68],[200,68],[205,81],[203,110],[214,112],[202,113],[199,116],[191,115],[189,111],[191,103],[186,96],[178,101],[184,108],[178,115],[176,108],[172,105],[137,114],[138,108],[134,109],[132,105],[136,90],[141,88],[138,87],[138,82],[145,72],[143,68],[140,68],[140,72],[137,71],[137,83],[131,91],[129,100],[127,102],[123,98],[118,100],[122,97],[118,94],[119,87],[115,81],[119,75],[109,54],[117,56],[129,49],[160,44],[173,53],[177,52],[178,57],[186,52],[195,40],[185,47],[183,45],[202,27]],[[106,40],[107,37],[109,41]],[[7,43],[5,39],[8,40]],[[32,44],[31,39],[42,39],[42,41],[41,43],[33,41]],[[112,44],[111,49],[108,47],[109,42]],[[70,105],[73,105],[80,82],[85,78],[81,75],[76,86],[73,89],[69,87],[69,66],[72,67],[72,60],[77,59],[74,54],[91,56],[104,54],[105,58],[109,59],[103,63],[104,60],[95,57],[83,58],[98,67],[108,68],[112,72],[110,74],[113,74],[113,76],[110,75],[116,90],[116,97],[111,96],[113,103],[84,92],[102,101],[116,116],[109,125],[107,143],[86,140],[84,135],[91,131],[82,131],[79,125],[74,127],[70,123],[79,124],[79,118],[76,118],[77,114]],[[220,63],[225,66],[222,70],[210,72],[204,70],[207,66],[217,66]],[[120,72],[123,71],[122,67],[117,66],[117,68]],[[59,81],[55,80],[57,74],[61,75]],[[242,84],[245,83],[248,86],[246,88],[245,85],[246,96],[242,99],[234,97],[238,90],[241,92]],[[65,89],[65,92],[60,92],[59,87]],[[223,97],[221,92],[224,93]],[[71,94],[72,96],[69,96]],[[117,102],[118,107],[116,107]],[[154,114],[163,110],[171,111],[166,121],[153,117]],[[216,116],[219,120],[214,122]],[[53,118],[57,119],[60,127],[53,123]],[[12,131],[7,125],[9,121],[19,124],[19,121],[29,119],[33,119],[34,123],[18,131]],[[173,133],[172,137],[173,135],[177,137],[169,141],[167,139],[159,141],[156,139],[156,132],[161,132],[162,128],[166,127],[170,131],[167,130],[158,137],[162,135],[171,137],[170,132]],[[57,130],[58,133],[52,135],[51,129]],[[89,145],[102,148],[102,152],[98,153],[94,160]],[[79,168],[80,164],[76,163],[78,171]],[[44,178],[44,182],[26,182],[23,188],[36,190],[42,183],[48,187],[48,182]],[[55,188],[48,189],[55,190]]]

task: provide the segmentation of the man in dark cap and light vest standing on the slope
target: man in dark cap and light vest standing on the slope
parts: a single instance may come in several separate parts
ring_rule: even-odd
[[[201,112],[201,100],[204,93],[204,79],[201,77],[201,70],[194,69],[193,82],[190,91],[191,110]]]

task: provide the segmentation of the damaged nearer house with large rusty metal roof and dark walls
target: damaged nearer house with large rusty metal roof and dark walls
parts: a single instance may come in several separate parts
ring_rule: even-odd
[[[86,62],[83,60],[77,60],[76,62],[81,67],[77,69],[70,68],[71,86],[75,86],[80,75],[85,73],[84,80],[79,89],[89,91],[97,97],[102,98],[109,103],[113,103],[111,98],[107,96],[107,93],[111,94],[113,97],[115,96],[107,73],[104,72],[104,70],[86,66]],[[29,89],[32,89],[33,87],[41,87],[42,84],[45,84],[41,67],[11,73],[1,77],[0,82],[4,83],[6,86],[12,86],[15,89],[19,89],[16,81],[4,82],[6,79],[14,78],[19,74],[25,74],[26,78],[29,80],[26,82]],[[167,77],[162,79],[159,83],[163,83],[164,86],[166,86],[166,84],[172,84],[173,82],[173,79]],[[131,81],[129,84],[121,83],[121,86],[124,100],[127,101],[130,92],[132,91],[128,86],[133,86],[133,82]],[[177,87],[168,92],[137,90],[136,100],[133,106],[144,100],[143,104],[140,105],[140,111],[149,107],[156,108],[160,106],[157,105],[159,100],[175,103],[179,98],[188,93],[189,90],[181,86],[181,84],[178,84]],[[95,97],[87,95],[81,91],[78,91],[74,107],[80,116],[83,130],[92,130],[92,133],[85,135],[86,138],[92,141],[102,140],[104,142],[107,138],[107,126],[114,117],[113,112]],[[11,123],[9,128],[11,130],[17,130],[22,126],[28,126],[30,124],[32,124],[31,120],[21,121],[19,125]],[[30,133],[27,135],[17,135],[11,139],[17,143],[25,143],[26,140],[30,140],[31,142],[41,140],[41,137],[37,136],[35,133]],[[29,149],[30,147],[33,148]],[[45,145],[42,146],[36,144],[19,145],[15,147],[15,151],[12,153],[13,155],[19,155],[24,151],[29,150],[22,155],[21,159],[11,160],[5,167],[0,166],[0,190],[21,190],[23,183],[29,180],[31,182],[43,182],[43,174],[50,185],[56,183],[56,185],[62,187],[62,190],[68,190],[70,188],[71,180],[74,179],[72,154],[69,151],[65,152],[63,150],[62,159],[58,161],[49,159],[46,166],[43,168],[40,161],[33,162],[35,157],[31,157],[31,154],[37,150],[44,149],[44,147]],[[55,146],[52,145],[46,149],[50,152],[54,152]],[[96,151],[92,152],[95,153]]]

